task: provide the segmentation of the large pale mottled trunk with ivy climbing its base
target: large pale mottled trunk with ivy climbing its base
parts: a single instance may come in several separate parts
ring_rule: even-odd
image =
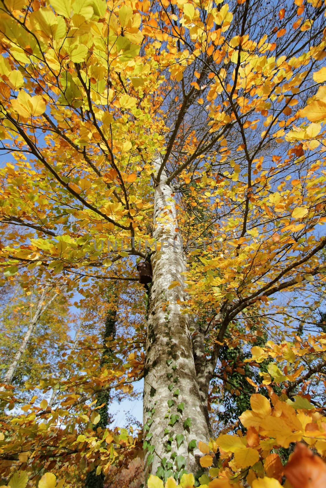
[[[143,414],[146,482],[149,474],[162,479],[180,478],[183,470],[196,474],[200,453],[194,440],[209,439],[189,317],[182,314],[186,270],[182,241],[173,189],[165,182],[163,173],[154,190],[153,238],[162,246],[151,256]]]

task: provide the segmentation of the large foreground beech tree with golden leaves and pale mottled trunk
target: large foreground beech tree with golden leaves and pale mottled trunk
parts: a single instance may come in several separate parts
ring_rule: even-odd
[[[143,376],[151,488],[281,486],[275,446],[304,440],[325,454],[324,406],[291,400],[292,385],[323,374],[325,338],[280,326],[280,344],[262,347],[250,325],[274,313],[286,326],[292,290],[309,295],[325,278],[325,4],[4,0],[0,12],[0,132],[15,159],[0,170],[4,275],[28,286],[33,272],[87,300],[109,280],[139,296],[136,260],[152,272],[133,308],[137,316],[146,300],[145,354],[135,324],[128,362],[97,378],[89,367],[56,418],[71,407],[88,422],[81,411],[96,389],[128,391]],[[221,347],[240,341],[252,346],[248,361],[270,360],[261,377],[272,406],[256,385],[240,416],[247,435],[214,440],[210,381]],[[76,426],[42,456],[53,462],[70,443],[80,462],[88,449],[100,476],[138,446],[126,433]],[[325,479],[304,449],[294,459]],[[285,474],[296,488],[293,466]]]

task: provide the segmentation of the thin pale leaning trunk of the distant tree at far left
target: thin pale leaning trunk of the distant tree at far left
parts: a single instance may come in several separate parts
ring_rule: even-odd
[[[41,296],[37,302],[35,313],[34,313],[33,317],[31,318],[31,321],[27,327],[25,336],[22,340],[22,344],[19,346],[19,348],[18,348],[18,350],[14,356],[14,359],[13,359],[11,365],[8,367],[8,370],[7,370],[7,372],[3,378],[3,383],[6,383],[7,385],[10,385],[10,383],[12,382],[12,379],[15,375],[16,369],[19,366],[20,361],[22,359],[22,355],[26,350],[26,347],[27,347],[28,342],[31,338],[31,335],[34,332],[34,329],[35,329],[36,325],[38,324],[42,313],[46,310],[46,308],[49,307],[49,305],[53,302],[55,297],[58,295],[58,293],[55,292],[54,295],[47,302],[44,303],[45,294],[46,294],[46,290],[43,289]],[[0,387],[0,391],[4,391],[4,389],[5,389],[5,386]]]

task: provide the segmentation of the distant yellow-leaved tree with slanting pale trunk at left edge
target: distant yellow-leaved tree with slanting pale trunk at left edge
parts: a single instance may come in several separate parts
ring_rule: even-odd
[[[4,385],[0,391],[4,391],[5,385],[15,382],[22,386],[26,379],[31,381],[33,378],[32,382],[35,382],[36,378],[42,377],[51,358],[47,341],[56,340],[59,345],[64,341],[68,327],[68,324],[66,328],[58,324],[67,316],[59,287],[45,286],[43,290],[35,289],[26,296],[22,290],[17,290],[17,286],[11,285],[13,293],[9,294],[6,304],[2,302],[1,359],[4,371],[1,381]]]

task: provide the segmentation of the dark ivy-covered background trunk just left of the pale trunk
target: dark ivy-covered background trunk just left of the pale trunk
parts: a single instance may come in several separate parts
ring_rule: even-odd
[[[115,337],[115,330],[116,330],[116,317],[117,317],[117,293],[114,290],[113,286],[110,287],[111,296],[109,297],[109,302],[113,305],[113,307],[108,311],[106,319],[105,319],[105,329],[104,329],[104,336],[103,336],[103,353],[101,356],[100,367],[110,364],[112,362],[112,350],[108,347],[109,338],[114,339]],[[100,421],[96,424],[97,427],[101,427],[105,429],[108,425],[108,406],[109,406],[109,390],[106,391],[99,391],[96,395],[97,405],[102,405],[103,407],[99,408],[97,412],[100,414]],[[103,488],[104,486],[104,474],[101,472],[100,474],[96,475],[96,468],[92,471],[89,471],[86,476],[85,480],[85,488]]]

